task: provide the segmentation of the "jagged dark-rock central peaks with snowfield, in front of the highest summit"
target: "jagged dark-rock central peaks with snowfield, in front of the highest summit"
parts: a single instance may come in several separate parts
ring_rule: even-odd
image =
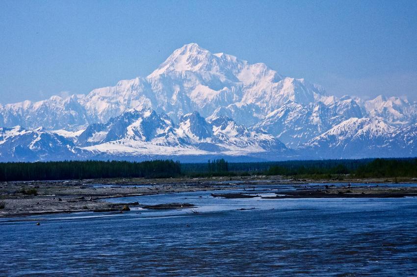
[[[269,134],[250,132],[229,118],[211,122],[198,112],[182,116],[174,125],[155,110],[129,110],[106,124],[88,126],[77,145],[91,155],[113,156],[264,156],[283,159],[294,153]]]

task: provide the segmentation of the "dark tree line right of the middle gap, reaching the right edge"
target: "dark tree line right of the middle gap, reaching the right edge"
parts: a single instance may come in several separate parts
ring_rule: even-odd
[[[318,176],[351,175],[357,177],[417,177],[416,158],[404,159],[344,159],[297,160],[278,162],[228,163],[214,160],[208,163],[181,164],[186,176],[283,175]]]

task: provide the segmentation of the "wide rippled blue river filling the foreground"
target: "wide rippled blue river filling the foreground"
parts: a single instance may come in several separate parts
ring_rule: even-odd
[[[255,193],[272,195],[277,187],[258,186]],[[211,193],[111,200],[193,203],[194,209],[0,219],[0,275],[417,274],[417,198],[220,199]]]

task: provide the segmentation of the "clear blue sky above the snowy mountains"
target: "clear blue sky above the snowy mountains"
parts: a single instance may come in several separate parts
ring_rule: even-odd
[[[417,100],[417,0],[3,0],[0,103],[147,76],[191,42],[329,94]]]

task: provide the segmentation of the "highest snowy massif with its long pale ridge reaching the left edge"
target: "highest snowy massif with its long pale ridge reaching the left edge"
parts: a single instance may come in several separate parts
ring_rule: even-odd
[[[57,129],[104,123],[130,108],[153,108],[178,122],[194,110],[208,117],[219,107],[235,105],[238,114],[238,109],[248,106],[237,117],[241,124],[253,110],[257,110],[255,117],[261,118],[288,100],[308,103],[320,93],[317,86],[281,76],[263,63],[249,64],[188,44],[175,50],[146,78],[122,80],[85,97],[52,97],[1,106],[0,120],[2,126]]]

